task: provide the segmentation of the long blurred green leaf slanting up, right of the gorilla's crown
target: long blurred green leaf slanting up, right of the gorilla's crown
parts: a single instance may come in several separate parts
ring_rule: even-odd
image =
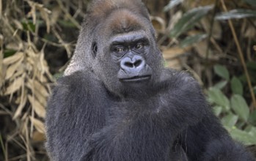
[[[173,27],[170,32],[170,37],[179,37],[183,32],[191,29],[194,25],[203,18],[213,6],[197,7],[186,12]]]

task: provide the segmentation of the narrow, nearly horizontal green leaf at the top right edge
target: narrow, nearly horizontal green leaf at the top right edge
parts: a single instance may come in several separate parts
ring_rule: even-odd
[[[216,15],[215,19],[229,20],[233,18],[250,18],[250,17],[256,17],[255,10],[238,9],[238,10],[230,10],[229,12],[222,12],[219,15]]]

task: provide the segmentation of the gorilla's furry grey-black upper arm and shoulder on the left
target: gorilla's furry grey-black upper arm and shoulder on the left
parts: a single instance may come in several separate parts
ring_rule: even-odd
[[[48,100],[46,147],[51,160],[78,160],[87,139],[105,124],[102,84],[90,72],[60,78]]]

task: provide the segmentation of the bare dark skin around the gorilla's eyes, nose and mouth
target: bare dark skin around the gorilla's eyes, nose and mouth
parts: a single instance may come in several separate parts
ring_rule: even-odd
[[[128,84],[150,81],[152,69],[145,61],[149,42],[144,35],[127,34],[114,37],[110,50],[112,58],[120,66],[117,73],[119,81]]]

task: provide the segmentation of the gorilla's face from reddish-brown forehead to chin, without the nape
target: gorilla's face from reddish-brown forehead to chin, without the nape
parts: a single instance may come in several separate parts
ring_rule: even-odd
[[[118,10],[104,22],[95,32],[98,36],[92,47],[96,75],[119,95],[148,89],[162,67],[150,21]]]

